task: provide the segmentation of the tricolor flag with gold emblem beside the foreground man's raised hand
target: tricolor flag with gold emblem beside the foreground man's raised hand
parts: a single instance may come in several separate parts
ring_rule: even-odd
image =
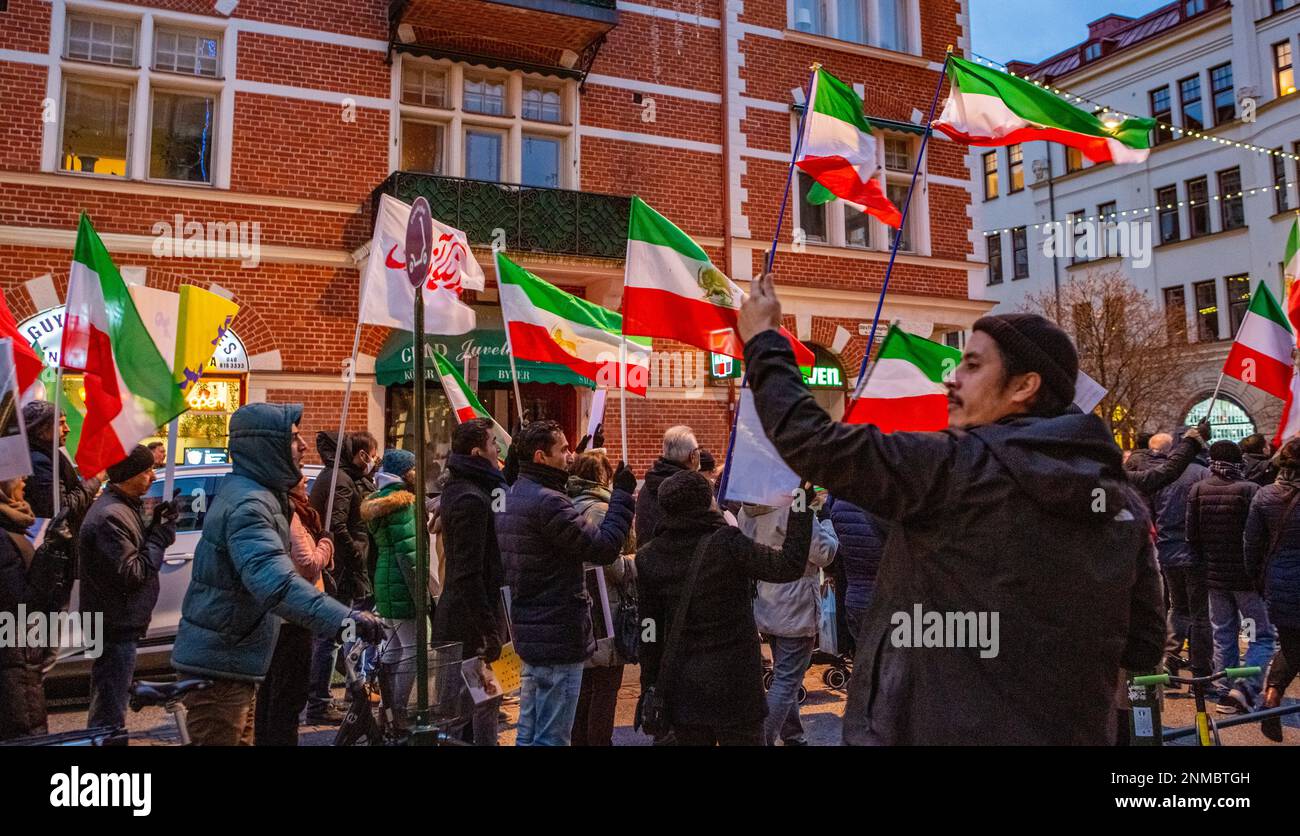
[[[708,255],[651,209],[632,198],[628,257],[623,274],[623,329],[627,334],[676,339],[696,348],[744,358],[736,317],[746,294],[714,267]],[[794,359],[814,364],[812,352],[784,328]]]

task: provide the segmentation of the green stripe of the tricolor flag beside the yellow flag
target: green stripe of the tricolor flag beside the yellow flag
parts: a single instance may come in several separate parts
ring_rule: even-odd
[[[113,361],[130,394],[153,404],[147,411],[159,425],[185,412],[185,395],[172,381],[172,372],[140,321],[122,274],[84,213],[77,230],[77,251],[73,257],[99,276],[108,338],[113,343]]]

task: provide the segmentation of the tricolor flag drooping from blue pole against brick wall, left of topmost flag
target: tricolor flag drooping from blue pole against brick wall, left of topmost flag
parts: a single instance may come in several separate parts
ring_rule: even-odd
[[[880,190],[876,140],[862,112],[862,99],[820,66],[812,74],[803,139],[794,160],[809,177],[836,198],[872,215],[889,226],[902,224],[902,213]]]

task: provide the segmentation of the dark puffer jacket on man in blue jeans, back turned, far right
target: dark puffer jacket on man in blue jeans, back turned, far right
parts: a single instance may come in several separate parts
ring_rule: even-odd
[[[1258,485],[1244,478],[1212,473],[1187,495],[1187,545],[1197,566],[1205,567],[1210,589],[1254,589],[1245,573],[1242,536],[1257,490]]]

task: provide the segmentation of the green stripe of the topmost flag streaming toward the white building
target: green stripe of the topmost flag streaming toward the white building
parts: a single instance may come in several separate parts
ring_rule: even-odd
[[[996,96],[1017,116],[1035,125],[1088,137],[1112,137],[1130,148],[1149,148],[1156,120],[1127,118],[1114,130],[1096,116],[1032,83],[992,68],[949,56],[948,77],[963,94]]]

